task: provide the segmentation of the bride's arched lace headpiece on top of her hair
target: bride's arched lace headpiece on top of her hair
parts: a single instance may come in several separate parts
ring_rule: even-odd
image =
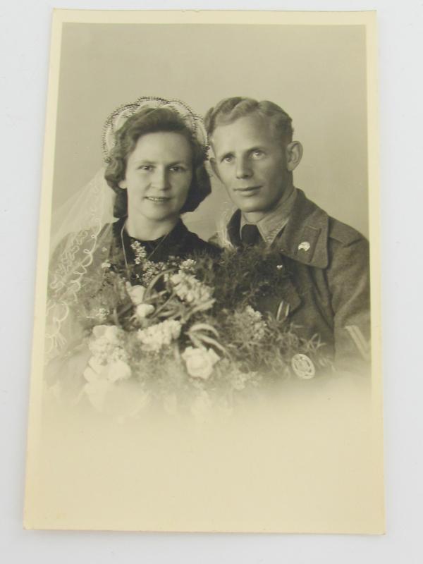
[[[142,96],[132,104],[119,106],[112,114],[110,114],[106,123],[104,123],[102,148],[106,161],[109,159],[111,149],[113,149],[116,144],[116,131],[122,127],[130,116],[137,114],[137,112],[146,107],[153,109],[166,107],[174,111],[175,114],[178,114],[191,131],[195,140],[197,140],[200,146],[203,147],[204,154],[207,154],[208,142],[204,122],[200,116],[190,109],[190,106],[176,99],[167,100],[166,98]]]

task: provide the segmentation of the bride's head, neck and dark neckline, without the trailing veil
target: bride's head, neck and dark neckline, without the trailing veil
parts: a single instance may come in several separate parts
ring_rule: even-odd
[[[165,106],[146,106],[116,132],[105,178],[116,192],[116,245],[133,262],[134,241],[149,260],[193,252],[216,253],[216,247],[190,233],[180,214],[194,211],[211,192],[204,168],[206,147],[186,121]]]

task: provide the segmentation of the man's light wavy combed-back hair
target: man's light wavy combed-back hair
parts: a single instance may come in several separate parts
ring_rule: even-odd
[[[290,143],[293,140],[292,119],[286,111],[268,100],[257,102],[255,99],[240,96],[224,98],[214,108],[209,109],[204,118],[207,134],[212,137],[219,125],[228,125],[253,113],[269,118],[272,133],[281,142]]]

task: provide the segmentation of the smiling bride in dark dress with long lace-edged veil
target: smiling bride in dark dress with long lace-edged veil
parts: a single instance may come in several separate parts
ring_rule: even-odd
[[[140,262],[218,254],[180,219],[211,192],[206,140],[201,119],[178,101],[140,98],[111,114],[104,128],[104,175],[74,198],[67,214],[58,214],[53,240],[61,242],[50,264],[47,360],[68,355],[73,364],[83,364],[88,353],[74,310],[102,288],[104,266],[139,283],[139,269],[134,273]],[[117,221],[111,221],[111,207]],[[52,371],[56,377],[59,367]]]

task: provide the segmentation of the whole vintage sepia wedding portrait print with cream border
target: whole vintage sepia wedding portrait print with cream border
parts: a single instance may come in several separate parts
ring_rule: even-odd
[[[375,54],[55,11],[25,527],[383,532]]]

